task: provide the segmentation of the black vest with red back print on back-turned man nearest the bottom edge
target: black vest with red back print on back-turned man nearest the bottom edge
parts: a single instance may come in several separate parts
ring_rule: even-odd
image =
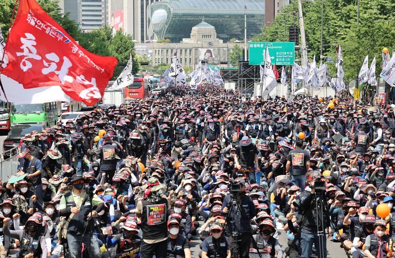
[[[161,198],[157,203],[141,201],[141,229],[143,239],[153,240],[167,237],[167,200]]]

